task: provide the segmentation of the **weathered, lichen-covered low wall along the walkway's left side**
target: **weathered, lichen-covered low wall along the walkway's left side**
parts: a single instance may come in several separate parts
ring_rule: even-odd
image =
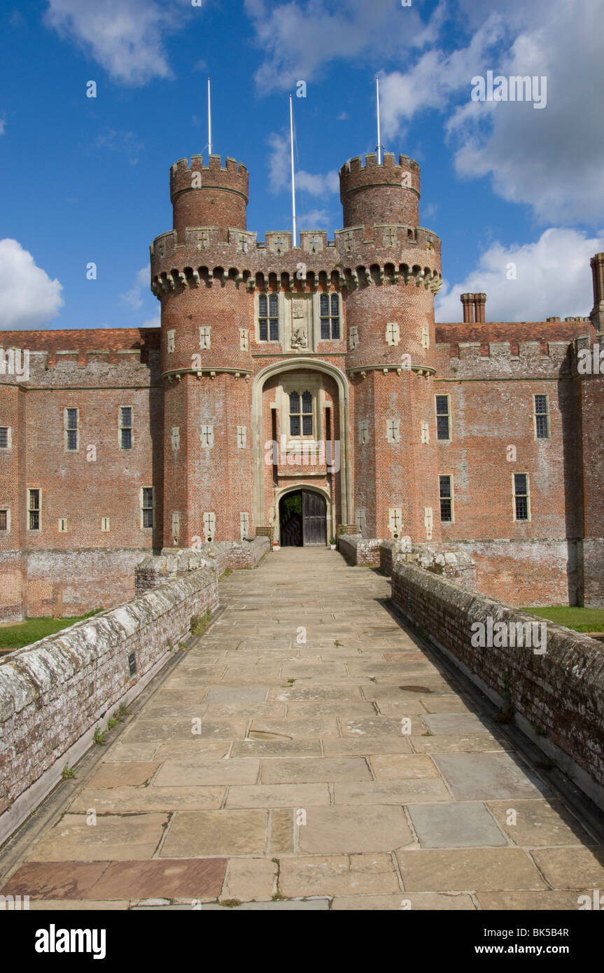
[[[200,568],[0,663],[0,843],[171,658],[192,616],[217,607],[216,571]]]

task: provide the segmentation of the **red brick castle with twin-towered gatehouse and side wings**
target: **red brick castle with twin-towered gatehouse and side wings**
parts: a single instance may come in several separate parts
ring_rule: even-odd
[[[465,552],[516,604],[604,605],[604,378],[578,368],[604,254],[590,318],[486,323],[464,294],[435,325],[417,163],[339,177],[343,229],[294,247],[248,232],[244,165],[176,162],[160,329],[0,333],[0,616],[119,603],[153,552],[342,530]]]

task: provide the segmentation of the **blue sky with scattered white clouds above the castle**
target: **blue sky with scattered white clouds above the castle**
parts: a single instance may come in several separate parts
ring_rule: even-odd
[[[300,225],[333,236],[338,169],[375,149],[379,72],[382,143],[420,163],[420,220],[443,239],[437,320],[459,320],[463,290],[486,292],[488,320],[587,314],[604,250],[601,17],[595,0],[9,0],[0,327],[159,322],[148,247],[171,227],[170,164],[207,151],[208,75],[214,152],[248,166],[260,239],[291,228],[289,92],[306,82]],[[473,101],[488,70],[546,77],[546,107]]]

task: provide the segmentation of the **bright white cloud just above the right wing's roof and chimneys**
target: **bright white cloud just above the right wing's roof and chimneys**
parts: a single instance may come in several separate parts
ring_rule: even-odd
[[[533,243],[494,243],[464,281],[444,282],[436,302],[437,320],[461,320],[460,296],[467,292],[486,294],[489,321],[583,317],[593,305],[589,259],[603,250],[604,235],[588,238],[560,227],[551,227]],[[510,264],[515,264],[515,279],[508,279]]]

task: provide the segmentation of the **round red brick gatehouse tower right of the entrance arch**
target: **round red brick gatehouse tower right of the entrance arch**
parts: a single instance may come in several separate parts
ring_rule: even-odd
[[[439,541],[434,296],[441,241],[419,226],[419,166],[385,153],[339,173],[355,512],[372,537]]]

